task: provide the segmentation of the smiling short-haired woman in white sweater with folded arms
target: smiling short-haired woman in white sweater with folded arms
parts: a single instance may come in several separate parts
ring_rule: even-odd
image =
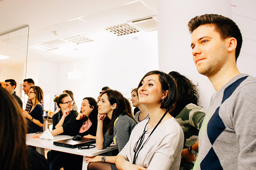
[[[118,170],[179,170],[184,135],[168,111],[176,99],[176,84],[161,71],[144,75],[138,86],[139,103],[149,112],[118,154]]]

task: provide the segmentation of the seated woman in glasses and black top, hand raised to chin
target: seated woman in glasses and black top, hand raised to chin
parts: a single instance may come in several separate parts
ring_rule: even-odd
[[[69,127],[74,122],[77,111],[72,109],[73,101],[69,94],[61,94],[56,99],[56,103],[60,108],[59,112],[53,115],[52,135],[66,134],[69,135]],[[39,138],[42,134],[36,134],[32,138]]]

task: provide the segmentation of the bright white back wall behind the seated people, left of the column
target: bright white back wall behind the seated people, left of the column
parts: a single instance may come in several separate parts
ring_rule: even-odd
[[[134,41],[133,37],[138,37]],[[78,106],[83,98],[97,99],[101,88],[109,86],[130,98],[131,90],[138,86],[146,72],[158,70],[157,31],[120,36],[116,41],[101,41],[94,56],[77,61],[77,71],[84,73],[81,80],[66,78],[75,71],[75,62],[58,66],[58,90],[71,90]]]

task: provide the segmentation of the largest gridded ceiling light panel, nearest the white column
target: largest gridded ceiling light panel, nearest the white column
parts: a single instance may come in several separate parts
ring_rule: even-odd
[[[116,34],[117,36],[123,36],[123,35],[127,35],[127,34],[132,34],[135,32],[139,32],[139,30],[135,29],[133,26],[130,26],[127,23],[120,24],[117,26],[110,26],[105,29],[107,31],[110,31],[110,32]]]

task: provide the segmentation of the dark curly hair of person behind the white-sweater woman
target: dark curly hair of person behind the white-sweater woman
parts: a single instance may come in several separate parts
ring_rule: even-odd
[[[178,72],[169,72],[169,75],[174,78],[177,84],[176,105],[171,114],[176,117],[185,106],[189,103],[196,104],[199,103],[199,93],[197,91],[197,86],[194,85],[187,77],[181,75]]]

